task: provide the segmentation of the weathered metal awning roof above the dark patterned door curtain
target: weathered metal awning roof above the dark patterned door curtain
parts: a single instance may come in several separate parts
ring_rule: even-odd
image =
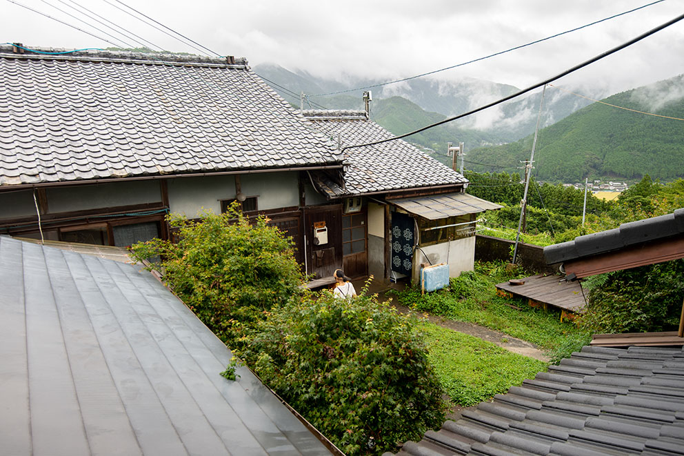
[[[388,202],[428,220],[476,214],[502,207],[499,204],[490,203],[490,201],[463,192],[431,195],[429,197],[388,199]]]

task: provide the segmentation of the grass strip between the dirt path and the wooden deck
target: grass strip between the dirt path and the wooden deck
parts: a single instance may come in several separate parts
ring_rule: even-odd
[[[550,350],[554,359],[570,355],[572,349],[588,343],[587,333],[575,324],[561,322],[560,313],[532,308],[522,299],[496,295],[495,284],[525,275],[520,270],[506,271],[503,263],[476,262],[473,272],[463,272],[443,290],[421,296],[418,288],[408,288],[397,292],[396,297],[414,310],[479,324],[530,341]]]

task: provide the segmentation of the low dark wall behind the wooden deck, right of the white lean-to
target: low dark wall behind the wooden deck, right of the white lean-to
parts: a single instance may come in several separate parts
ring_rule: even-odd
[[[515,241],[499,239],[498,237],[476,235],[475,259],[479,261],[506,261],[512,260],[512,248]],[[516,263],[526,270],[538,272],[540,274],[557,274],[560,264],[546,264],[544,258],[544,248],[533,246],[532,244],[518,244]]]

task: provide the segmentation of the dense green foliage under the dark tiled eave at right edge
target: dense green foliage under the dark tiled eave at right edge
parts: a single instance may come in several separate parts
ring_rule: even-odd
[[[592,333],[675,330],[684,299],[684,260],[641,266],[587,281],[580,324]]]

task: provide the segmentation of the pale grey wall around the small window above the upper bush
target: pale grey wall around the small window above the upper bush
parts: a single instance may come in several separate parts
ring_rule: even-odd
[[[296,172],[263,172],[241,175],[241,188],[248,197],[258,197],[259,210],[299,206]],[[221,199],[235,197],[235,178],[227,176],[183,177],[168,181],[171,212],[194,218],[202,208],[221,213]]]

